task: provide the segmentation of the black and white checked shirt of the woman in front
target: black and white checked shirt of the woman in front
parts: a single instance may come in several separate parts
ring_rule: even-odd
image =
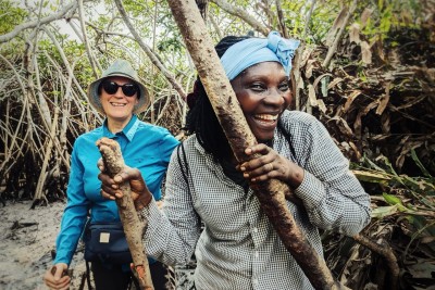
[[[319,121],[296,111],[284,112],[282,118],[291,135],[296,160],[278,131],[273,147],[306,169],[302,184],[295,190],[306,211],[287,204],[323,256],[318,227],[346,235],[359,232],[370,220],[370,199]],[[149,216],[145,237],[148,253],[175,265],[188,263],[195,251],[197,289],[312,289],[260,211],[252,190],[245,192],[226,177],[195,136],[184,147],[189,185],[183,178],[175,150],[167,171],[163,212],[152,202],[142,213]],[[206,225],[202,232],[200,220]]]

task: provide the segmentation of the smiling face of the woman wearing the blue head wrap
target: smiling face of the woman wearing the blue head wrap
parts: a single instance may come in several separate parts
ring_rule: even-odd
[[[277,119],[291,101],[283,66],[262,62],[245,70],[231,84],[257,140],[272,140]]]

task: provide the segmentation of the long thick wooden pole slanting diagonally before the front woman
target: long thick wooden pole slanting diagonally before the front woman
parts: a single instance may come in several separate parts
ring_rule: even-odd
[[[239,162],[244,150],[257,143],[238,104],[228,78],[213,48],[207,27],[194,0],[169,0],[172,14],[204,85],[217,119]],[[285,196],[289,187],[278,180],[251,185],[261,207],[286,249],[291,253],[315,289],[339,289],[326,263],[310,245],[290,214]]]

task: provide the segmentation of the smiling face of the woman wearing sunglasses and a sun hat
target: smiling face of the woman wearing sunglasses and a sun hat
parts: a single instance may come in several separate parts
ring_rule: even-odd
[[[132,97],[125,96],[121,86],[125,84],[134,84],[134,81],[120,76],[108,77],[104,80],[114,81],[120,86],[113,94],[108,93],[103,88],[101,88],[100,101],[105,116],[108,117],[108,122],[126,125],[132,118],[133,110],[138,103],[138,99],[137,93]]]

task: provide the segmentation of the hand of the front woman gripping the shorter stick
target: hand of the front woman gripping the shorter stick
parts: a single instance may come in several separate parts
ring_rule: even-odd
[[[152,194],[145,184],[144,177],[139,169],[125,167],[121,173],[111,178],[104,171],[104,164],[100,159],[98,161],[100,174],[98,179],[101,180],[101,196],[104,199],[115,200],[123,197],[121,185],[128,181],[132,190],[132,199],[137,211],[140,211],[149,204]]]

